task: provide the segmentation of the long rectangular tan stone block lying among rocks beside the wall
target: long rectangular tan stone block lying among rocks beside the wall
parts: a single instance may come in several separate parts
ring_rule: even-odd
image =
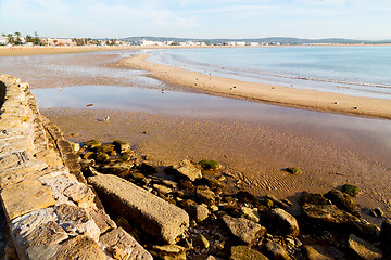
[[[175,244],[189,226],[187,212],[116,176],[88,178],[99,198],[116,213],[138,224],[147,234]]]

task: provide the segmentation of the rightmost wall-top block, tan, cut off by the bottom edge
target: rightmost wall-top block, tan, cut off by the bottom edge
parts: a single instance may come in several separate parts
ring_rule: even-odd
[[[152,260],[152,256],[121,227],[102,235],[99,244],[102,245],[106,252],[112,255],[114,259]]]

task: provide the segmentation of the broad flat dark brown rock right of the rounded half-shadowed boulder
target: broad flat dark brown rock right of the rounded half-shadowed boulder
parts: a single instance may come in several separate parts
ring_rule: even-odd
[[[307,221],[320,224],[324,229],[357,231],[357,226],[361,226],[357,217],[337,208],[335,205],[304,204],[302,213]]]

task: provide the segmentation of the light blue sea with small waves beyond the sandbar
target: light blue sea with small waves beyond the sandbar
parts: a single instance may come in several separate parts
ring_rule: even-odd
[[[391,46],[147,50],[149,61],[245,81],[391,99]]]

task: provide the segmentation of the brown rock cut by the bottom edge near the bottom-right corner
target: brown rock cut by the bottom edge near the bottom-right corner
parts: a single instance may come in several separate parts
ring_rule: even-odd
[[[361,259],[376,260],[382,258],[382,251],[379,248],[353,234],[349,236],[348,244],[349,248],[351,248]]]

